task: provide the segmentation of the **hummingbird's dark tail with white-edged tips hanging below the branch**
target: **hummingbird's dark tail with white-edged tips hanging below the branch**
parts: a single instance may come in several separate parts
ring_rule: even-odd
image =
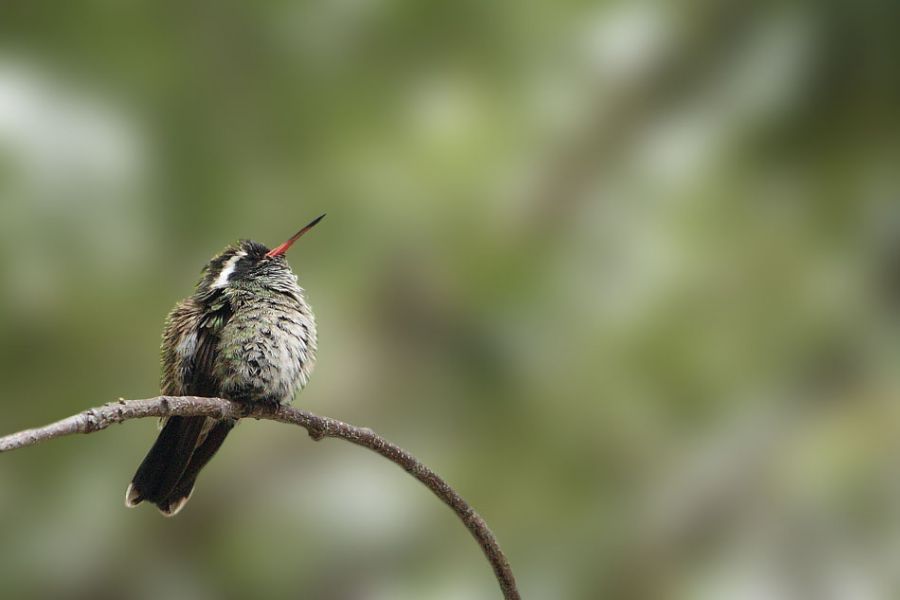
[[[144,500],[167,517],[190,499],[197,474],[234,427],[233,419],[169,417],[125,492],[126,506]]]

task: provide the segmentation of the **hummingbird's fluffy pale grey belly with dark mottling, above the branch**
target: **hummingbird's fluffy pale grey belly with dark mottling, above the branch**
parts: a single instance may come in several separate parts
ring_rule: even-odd
[[[263,307],[225,326],[217,361],[220,393],[245,402],[288,403],[315,362],[311,314]]]

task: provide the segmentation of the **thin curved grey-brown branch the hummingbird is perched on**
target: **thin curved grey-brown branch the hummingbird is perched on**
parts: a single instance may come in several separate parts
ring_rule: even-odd
[[[488,528],[484,519],[456,493],[437,473],[419,462],[412,454],[385,440],[374,431],[356,427],[330,417],[320,417],[313,413],[289,406],[262,406],[240,404],[221,398],[200,398],[196,396],[158,396],[145,400],[119,400],[103,406],[91,408],[71,417],[50,423],[44,427],[26,429],[18,433],[0,437],[0,452],[7,452],[25,446],[33,446],[45,440],[71,435],[73,433],[94,433],[115,423],[144,417],[215,417],[240,419],[253,417],[281,423],[292,423],[306,429],[314,440],[340,438],[358,446],[377,452],[389,461],[399,465],[404,471],[418,479],[435,496],[453,509],[478,544],[494,569],[503,597],[518,600],[516,580],[509,561],[500,550],[497,538]]]

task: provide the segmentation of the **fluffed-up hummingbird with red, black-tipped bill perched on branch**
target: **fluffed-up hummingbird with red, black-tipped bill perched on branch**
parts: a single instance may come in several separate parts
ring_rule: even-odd
[[[306,385],[316,360],[316,321],[285,253],[324,217],[271,250],[241,240],[203,267],[193,295],[166,319],[160,352],[164,396],[277,405],[289,403]],[[165,516],[178,513],[235,422],[162,419],[125,492],[126,506],[146,500]]]

